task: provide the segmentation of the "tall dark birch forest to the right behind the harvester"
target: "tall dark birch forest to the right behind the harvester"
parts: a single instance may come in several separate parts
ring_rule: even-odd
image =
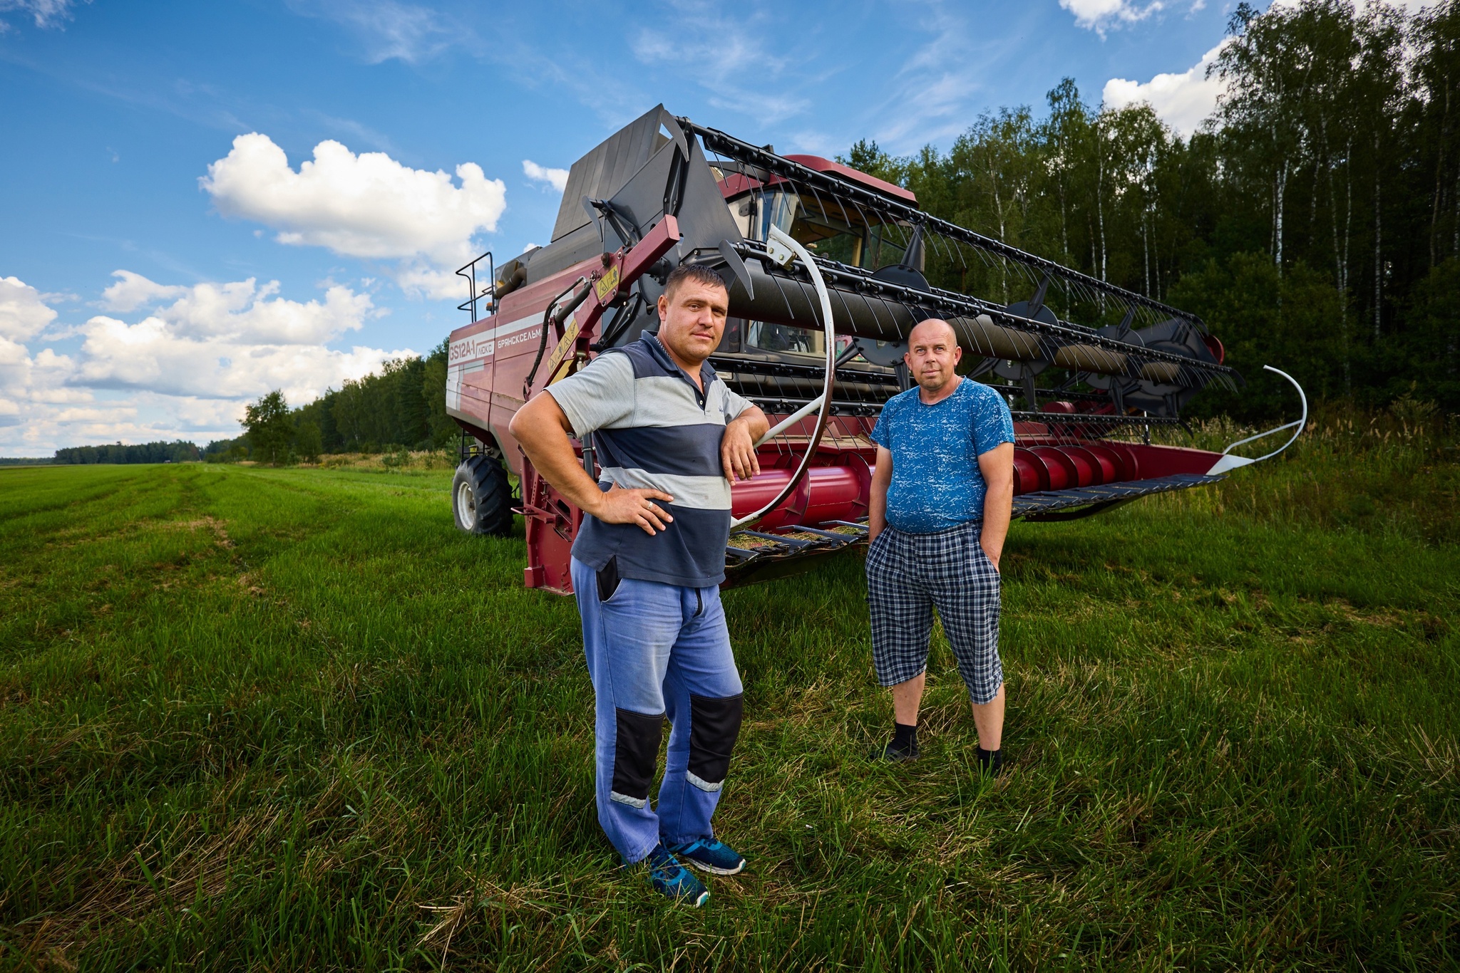
[[[841,160],[936,216],[1202,315],[1251,387],[1199,411],[1275,414],[1291,391],[1266,363],[1318,398],[1460,410],[1460,3],[1242,3],[1212,71],[1226,93],[1190,137],[1064,79],[1038,117],[987,112],[948,152],[858,142]],[[968,283],[929,263],[933,283]]]

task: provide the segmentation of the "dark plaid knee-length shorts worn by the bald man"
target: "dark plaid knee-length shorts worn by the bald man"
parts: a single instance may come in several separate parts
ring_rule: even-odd
[[[936,605],[968,694],[987,703],[999,693],[999,572],[978,544],[981,532],[978,521],[936,534],[888,527],[872,543],[867,605],[880,684],[905,683],[927,668]]]

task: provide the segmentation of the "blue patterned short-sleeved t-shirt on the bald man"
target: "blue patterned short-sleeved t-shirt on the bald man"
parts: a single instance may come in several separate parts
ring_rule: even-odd
[[[934,406],[910,388],[888,400],[872,441],[892,451],[888,524],[933,534],[984,519],[978,457],[1013,442],[1013,417],[994,389],[969,378]]]

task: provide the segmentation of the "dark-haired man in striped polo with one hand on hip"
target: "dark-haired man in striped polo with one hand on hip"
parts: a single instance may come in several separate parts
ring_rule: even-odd
[[[625,864],[648,861],[654,888],[695,906],[710,893],[677,858],[718,875],[745,867],[710,824],[742,712],[720,582],[730,484],[761,471],[755,441],[769,425],[705,360],[729,306],[718,274],[676,268],[657,336],[609,349],[511,423],[533,467],[587,513],[572,586],[597,700],[599,824]],[[590,435],[597,483],[569,442]]]

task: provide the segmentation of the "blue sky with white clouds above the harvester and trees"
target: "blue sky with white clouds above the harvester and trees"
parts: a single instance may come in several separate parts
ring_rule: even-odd
[[[1231,6],[0,0],[0,455],[428,352],[461,255],[548,242],[555,171],[657,102],[907,153],[1073,76],[1190,128]]]

